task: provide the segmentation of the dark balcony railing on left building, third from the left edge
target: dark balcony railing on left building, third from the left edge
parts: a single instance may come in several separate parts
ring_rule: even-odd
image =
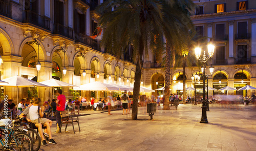
[[[62,36],[68,37],[70,39],[74,39],[74,36],[73,36],[74,30],[69,27],[60,25],[60,24],[54,24],[54,33],[53,34],[60,34]]]

